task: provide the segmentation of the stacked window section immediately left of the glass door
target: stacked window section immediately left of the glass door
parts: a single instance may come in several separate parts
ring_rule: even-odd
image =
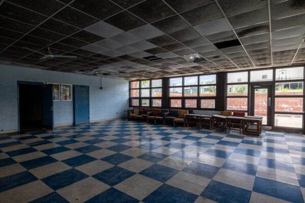
[[[248,111],[248,72],[227,73],[226,102],[228,111]]]

